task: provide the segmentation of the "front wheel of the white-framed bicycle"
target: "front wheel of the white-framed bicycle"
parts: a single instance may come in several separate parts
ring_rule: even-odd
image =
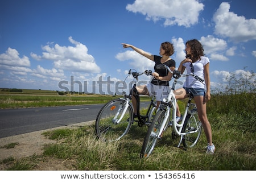
[[[164,119],[166,111],[158,110],[155,115],[154,120],[151,122],[150,127],[148,127],[146,137],[141,149],[141,158],[148,158],[155,148],[156,142],[158,140],[159,129]]]

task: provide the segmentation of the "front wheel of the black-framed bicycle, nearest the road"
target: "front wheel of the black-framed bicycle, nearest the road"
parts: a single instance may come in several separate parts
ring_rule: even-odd
[[[112,142],[121,139],[126,135],[132,124],[133,109],[129,104],[125,111],[126,100],[115,99],[106,103],[96,118],[96,134],[98,138]],[[125,111],[122,118],[121,115]],[[119,123],[117,121],[121,119]]]

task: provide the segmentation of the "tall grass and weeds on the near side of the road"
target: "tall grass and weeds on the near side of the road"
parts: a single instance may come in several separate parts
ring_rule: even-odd
[[[246,82],[249,85],[245,86],[246,80],[232,79],[221,92],[214,90],[208,102],[208,118],[216,146],[213,155],[205,154],[207,139],[204,133],[195,147],[183,150],[176,147],[179,138],[171,138],[169,127],[150,157],[139,159],[147,127],[138,127],[134,123],[125,138],[112,143],[98,140],[94,125],[48,131],[43,135],[56,142],[44,146],[42,155],[22,159],[10,157],[0,163],[5,170],[37,170],[42,163],[56,160],[67,170],[255,171],[255,82]],[[104,101],[113,99],[101,97]],[[179,106],[184,110],[185,101],[179,101]]]

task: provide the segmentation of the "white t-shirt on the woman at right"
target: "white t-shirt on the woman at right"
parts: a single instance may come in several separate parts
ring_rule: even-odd
[[[194,67],[194,72],[195,75],[199,76],[200,78],[204,79],[204,66],[210,63],[208,57],[201,56],[201,60],[197,60],[195,63],[189,63],[186,62],[183,64],[184,67],[186,67],[187,73],[192,73],[191,72],[191,64]],[[204,84],[200,82],[199,80],[196,80],[193,76],[187,76],[184,86],[187,88],[195,88],[195,89],[202,89],[205,88],[205,82]]]

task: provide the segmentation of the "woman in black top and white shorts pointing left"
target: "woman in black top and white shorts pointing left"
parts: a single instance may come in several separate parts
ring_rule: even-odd
[[[152,73],[152,76],[154,76],[154,79],[150,82],[150,84],[147,85],[139,85],[136,87],[137,94],[142,95],[148,95],[148,96],[155,96],[156,97],[156,106],[158,107],[160,104],[160,101],[163,99],[163,93],[167,89],[166,87],[169,86],[169,81],[172,78],[172,73],[168,72],[167,69],[158,69],[156,68],[156,65],[158,64],[166,64],[171,71],[174,71],[175,69],[175,61],[171,59],[171,55],[174,54],[174,46],[170,42],[164,42],[160,46],[160,52],[159,55],[151,55],[148,52],[143,51],[140,48],[137,48],[130,44],[122,43],[123,48],[132,48],[134,51],[138,52],[142,56],[147,57],[148,59],[155,61],[155,72]],[[135,116],[137,115],[137,105],[136,100],[133,97],[132,98],[133,107],[134,107],[134,113]]]

